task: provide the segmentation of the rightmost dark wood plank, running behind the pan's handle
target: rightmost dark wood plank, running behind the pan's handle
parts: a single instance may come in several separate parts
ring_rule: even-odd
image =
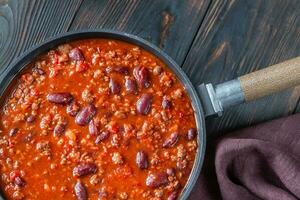
[[[298,0],[216,0],[208,10],[183,69],[198,85],[220,83],[300,56]],[[227,110],[207,121],[209,134],[291,114],[300,87]]]

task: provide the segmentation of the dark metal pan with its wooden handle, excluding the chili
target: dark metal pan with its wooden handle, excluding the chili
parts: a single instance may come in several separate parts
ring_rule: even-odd
[[[204,123],[206,117],[221,116],[223,110],[230,106],[300,84],[300,57],[298,57],[216,86],[210,83],[194,86],[176,62],[153,44],[127,33],[99,29],[69,32],[28,50],[0,74],[0,97],[8,95],[9,88],[13,86],[18,74],[35,57],[59,44],[87,38],[116,39],[140,46],[160,58],[177,75],[186,89],[195,112],[198,150],[188,182],[179,197],[182,200],[188,198],[201,171],[206,145]],[[1,98],[0,101],[3,103],[4,99]]]

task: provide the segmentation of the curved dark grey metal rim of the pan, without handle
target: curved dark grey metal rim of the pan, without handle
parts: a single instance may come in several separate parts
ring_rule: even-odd
[[[21,56],[15,59],[10,65],[8,65],[8,67],[6,67],[2,71],[2,73],[0,74],[0,98],[2,98],[3,93],[7,90],[8,86],[10,86],[11,82],[16,78],[16,76],[18,76],[19,73],[23,71],[25,66],[30,61],[34,60],[36,56],[46,52],[51,48],[56,47],[59,44],[66,43],[68,41],[88,38],[110,38],[140,46],[141,48],[145,49],[146,51],[154,54],[159,59],[161,59],[168,66],[168,68],[176,74],[177,78],[184,86],[185,91],[188,93],[189,98],[191,100],[198,130],[198,148],[193,168],[189,175],[187,183],[185,184],[179,196],[179,198],[182,200],[188,199],[192,189],[196,184],[196,181],[198,180],[204,161],[206,148],[206,127],[205,118],[203,114],[204,111],[194,85],[191,83],[190,79],[187,77],[182,68],[163,50],[150,43],[149,41],[144,40],[133,34],[109,29],[86,29],[80,31],[70,31],[56,35],[54,37],[50,37],[49,39],[46,39],[40,44],[35,45],[26,50],[24,53],[21,54]],[[2,198],[0,197],[0,199]]]

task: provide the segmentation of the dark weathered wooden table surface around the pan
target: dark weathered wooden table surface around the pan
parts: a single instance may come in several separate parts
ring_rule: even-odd
[[[151,41],[195,85],[300,56],[299,0],[0,0],[0,69],[51,36],[89,28]],[[208,137],[300,112],[299,96],[296,87],[227,110],[207,120]]]

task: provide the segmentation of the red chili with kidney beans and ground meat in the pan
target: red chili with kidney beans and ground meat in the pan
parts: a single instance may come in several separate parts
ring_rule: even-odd
[[[177,199],[198,146],[175,74],[117,40],[74,41],[37,57],[0,119],[7,199]]]

